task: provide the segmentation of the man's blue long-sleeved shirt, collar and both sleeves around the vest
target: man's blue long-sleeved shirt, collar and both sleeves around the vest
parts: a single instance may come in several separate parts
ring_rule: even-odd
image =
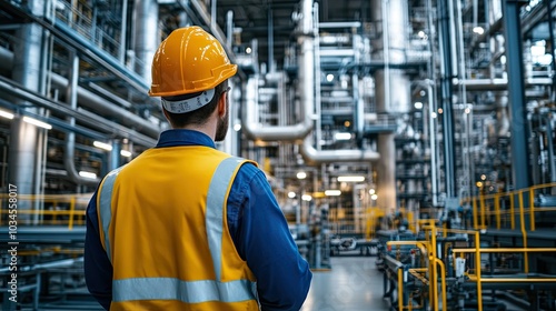
[[[156,148],[206,146],[215,142],[191,130],[168,130]],[[228,227],[239,255],[257,278],[262,310],[299,310],[309,291],[312,274],[298,252],[286,219],[264,172],[244,164],[228,197]],[[112,265],[100,243],[97,192],[87,208],[85,244],[87,287],[99,303],[109,310],[112,299]]]

